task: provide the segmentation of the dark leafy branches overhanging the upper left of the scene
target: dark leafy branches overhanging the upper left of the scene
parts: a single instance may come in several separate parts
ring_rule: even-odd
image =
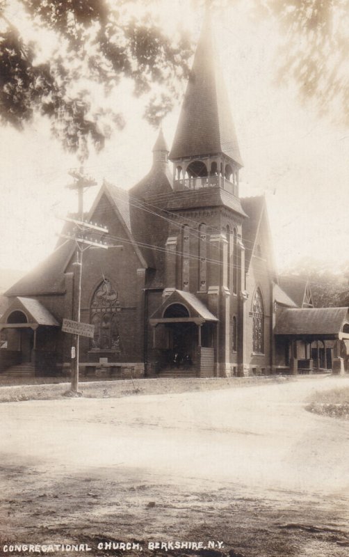
[[[56,47],[48,60],[38,42],[25,44],[7,19],[0,31],[0,121],[21,128],[35,111],[51,119],[52,131],[67,150],[88,156],[88,142],[101,149],[120,129],[122,113],[96,107],[91,84],[108,95],[120,80],[133,82],[135,95],[149,95],[145,117],[158,125],[173,107],[179,81],[188,72],[193,52],[188,38],[165,36],[149,14],[133,17],[129,5],[147,2],[119,0],[18,0],[40,32],[51,33]],[[113,8],[113,6],[117,6]]]

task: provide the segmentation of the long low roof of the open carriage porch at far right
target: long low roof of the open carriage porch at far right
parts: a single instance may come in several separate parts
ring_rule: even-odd
[[[348,308],[282,309],[277,314],[277,335],[338,335],[348,322]]]

